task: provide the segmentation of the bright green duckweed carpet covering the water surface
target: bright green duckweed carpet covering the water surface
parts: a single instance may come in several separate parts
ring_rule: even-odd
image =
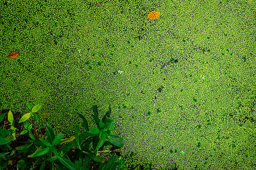
[[[255,1],[9,0],[0,11],[1,109],[42,103],[51,116],[38,126],[68,137],[78,113],[93,127],[92,105],[100,117],[111,105],[127,169],[256,169]]]

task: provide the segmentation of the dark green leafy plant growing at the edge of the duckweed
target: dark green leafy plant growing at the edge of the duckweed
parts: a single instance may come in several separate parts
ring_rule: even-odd
[[[106,162],[101,156],[102,152],[120,153],[123,147],[123,139],[110,133],[114,126],[113,119],[110,117],[110,106],[109,111],[106,112],[101,120],[98,118],[97,106],[93,106],[93,120],[97,128],[89,129],[87,120],[82,114],[79,114],[83,121],[82,127],[86,131],[80,133],[80,125],[78,125],[75,130],[75,137],[63,139],[64,134],[55,135],[53,130],[46,126],[47,139],[31,138],[32,140],[20,142],[24,143],[24,145],[13,149],[10,143],[15,141],[15,137],[27,133],[28,135],[29,133],[33,134],[32,124],[29,124],[26,120],[31,115],[35,117],[40,107],[41,105],[30,106],[30,114],[27,113],[28,116],[25,114],[20,118],[21,121],[19,122],[24,122],[24,129],[22,131],[19,130],[21,131],[20,133],[15,133],[13,114],[9,111],[8,120],[11,123],[11,128],[9,130],[1,128],[0,130],[0,169],[6,168],[12,162],[12,159],[15,156],[17,157],[17,154],[19,154],[19,160],[16,164],[17,169],[34,169],[36,167],[40,169],[90,169],[89,163],[91,162],[101,163],[98,169],[122,169],[125,165],[124,163],[121,164],[121,157],[112,156]],[[0,115],[0,119],[2,117]],[[32,135],[29,136],[34,137]],[[115,150],[100,151],[104,146],[115,147]]]

